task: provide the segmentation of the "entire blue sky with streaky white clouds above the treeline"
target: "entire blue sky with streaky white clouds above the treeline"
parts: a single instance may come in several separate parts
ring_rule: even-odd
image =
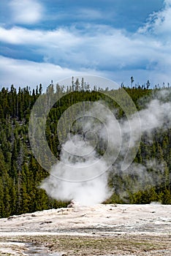
[[[1,0],[0,42],[1,87],[171,84],[171,0]]]

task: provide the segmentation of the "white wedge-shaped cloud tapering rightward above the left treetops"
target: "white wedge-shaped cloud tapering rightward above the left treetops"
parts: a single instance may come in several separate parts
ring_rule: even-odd
[[[94,70],[77,71],[66,69],[49,63],[37,63],[34,61],[9,59],[0,56],[0,86],[37,86],[42,83],[45,88],[51,80],[57,83],[59,80],[72,78],[77,75],[100,75]],[[102,75],[102,74],[101,74]]]

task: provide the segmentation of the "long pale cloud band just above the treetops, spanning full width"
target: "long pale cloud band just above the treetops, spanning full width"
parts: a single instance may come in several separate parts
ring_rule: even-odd
[[[72,76],[77,77],[78,75],[99,75],[104,78],[109,78],[117,83],[122,82],[125,85],[130,85],[130,77],[134,75],[134,83],[139,82],[140,84],[145,83],[150,79],[151,83],[162,84],[165,82],[170,82],[170,73],[162,71],[148,71],[145,69],[120,69],[113,71],[96,71],[94,69],[66,69],[55,64],[49,63],[37,63],[34,61],[9,59],[0,56],[0,86],[35,86],[42,83],[44,89],[53,80],[54,83],[59,80],[64,80],[66,78],[72,78]],[[102,85],[100,85],[102,86]],[[0,87],[0,88],[1,88]]]

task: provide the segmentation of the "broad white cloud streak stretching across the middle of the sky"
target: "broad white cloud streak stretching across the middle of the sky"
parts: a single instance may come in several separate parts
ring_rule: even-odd
[[[140,35],[128,36],[110,26],[94,26],[94,34],[71,28],[54,31],[29,30],[20,27],[0,28],[1,41],[16,45],[31,45],[45,61],[66,67],[132,67],[146,65],[161,58],[162,43]],[[170,46],[168,46],[170,49]],[[169,50],[168,49],[168,50]]]

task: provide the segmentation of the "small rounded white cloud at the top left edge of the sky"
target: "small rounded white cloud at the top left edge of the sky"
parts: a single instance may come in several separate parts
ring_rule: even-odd
[[[42,18],[42,4],[37,0],[11,0],[9,7],[12,20],[18,24],[33,24]]]

